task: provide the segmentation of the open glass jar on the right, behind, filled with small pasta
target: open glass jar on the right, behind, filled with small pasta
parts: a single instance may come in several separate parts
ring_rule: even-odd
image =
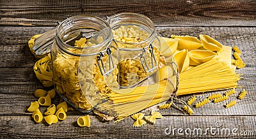
[[[154,75],[161,44],[152,20],[138,13],[119,13],[109,17],[107,22],[118,47],[116,66],[120,87],[134,87]],[[154,80],[147,83],[154,84]]]

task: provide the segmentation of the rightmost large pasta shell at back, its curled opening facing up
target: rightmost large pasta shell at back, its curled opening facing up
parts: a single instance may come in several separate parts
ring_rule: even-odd
[[[211,38],[210,36],[205,35],[205,34],[200,34],[199,37],[203,44],[203,47],[206,50],[221,52],[222,45],[221,45],[221,43],[219,43],[219,41],[216,41],[213,38]]]

